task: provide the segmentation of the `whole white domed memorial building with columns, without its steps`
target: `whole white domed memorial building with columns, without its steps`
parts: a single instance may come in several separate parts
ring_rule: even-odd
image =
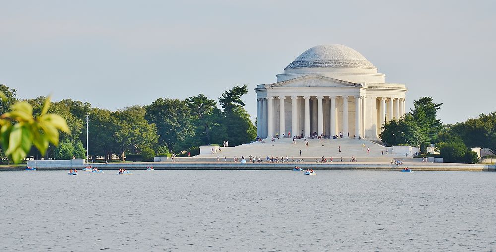
[[[339,135],[378,140],[380,127],[402,117],[407,89],[362,54],[338,44],[308,49],[277,82],[257,85],[257,135]]]

